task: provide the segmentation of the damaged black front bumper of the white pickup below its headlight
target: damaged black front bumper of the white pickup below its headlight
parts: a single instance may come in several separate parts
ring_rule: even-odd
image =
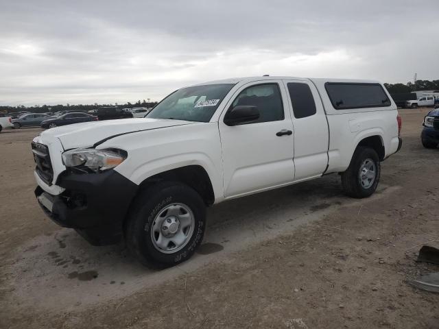
[[[64,171],[56,186],[64,191],[51,195],[40,186],[35,190],[37,202],[49,218],[60,226],[74,228],[93,245],[120,241],[123,219],[137,193],[137,184],[114,170],[104,173]]]

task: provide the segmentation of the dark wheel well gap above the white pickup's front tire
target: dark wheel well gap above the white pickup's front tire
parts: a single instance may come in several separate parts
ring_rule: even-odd
[[[215,201],[211,179],[206,170],[199,165],[194,164],[191,166],[171,169],[169,171],[163,171],[163,173],[158,173],[144,180],[139,188],[145,188],[151,184],[164,180],[182,182],[183,184],[191,186],[191,188],[198,192],[207,206],[211,206]]]

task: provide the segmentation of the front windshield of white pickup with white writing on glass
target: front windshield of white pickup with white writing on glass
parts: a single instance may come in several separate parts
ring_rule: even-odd
[[[178,89],[147,114],[152,119],[208,122],[234,84],[206,84]]]

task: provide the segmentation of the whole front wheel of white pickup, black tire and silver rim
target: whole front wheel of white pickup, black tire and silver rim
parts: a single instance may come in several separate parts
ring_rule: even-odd
[[[206,206],[193,188],[159,182],[136,197],[126,226],[128,248],[143,265],[172,266],[191,258],[206,226]]]

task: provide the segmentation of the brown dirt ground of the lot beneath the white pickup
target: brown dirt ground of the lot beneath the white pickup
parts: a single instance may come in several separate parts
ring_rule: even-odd
[[[405,282],[439,271],[415,263],[439,247],[427,111],[400,110],[403,148],[372,197],[345,197],[327,175],[219,204],[200,252],[162,271],[45,218],[29,145],[40,130],[3,130],[0,328],[439,328],[439,294]]]

